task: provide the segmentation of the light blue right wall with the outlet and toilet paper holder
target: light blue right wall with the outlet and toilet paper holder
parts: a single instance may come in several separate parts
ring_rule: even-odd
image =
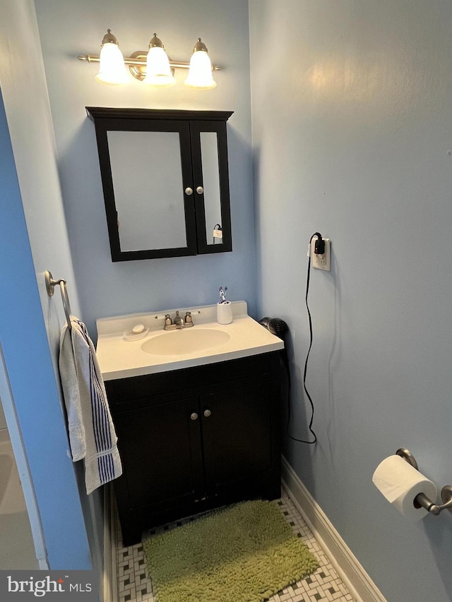
[[[405,446],[452,482],[452,6],[251,0],[261,313],[290,325],[285,455],[389,602],[452,599],[451,515],[410,524],[371,483]],[[275,43],[272,43],[275,42]]]

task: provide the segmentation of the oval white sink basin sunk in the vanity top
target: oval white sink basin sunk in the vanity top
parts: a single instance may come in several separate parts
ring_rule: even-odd
[[[224,345],[230,338],[230,335],[224,330],[213,328],[173,330],[148,339],[141,345],[141,349],[153,355],[178,356],[194,354]]]

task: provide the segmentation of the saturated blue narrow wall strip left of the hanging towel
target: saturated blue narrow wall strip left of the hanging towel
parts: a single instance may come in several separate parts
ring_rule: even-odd
[[[51,569],[90,569],[22,198],[0,95],[0,342]]]

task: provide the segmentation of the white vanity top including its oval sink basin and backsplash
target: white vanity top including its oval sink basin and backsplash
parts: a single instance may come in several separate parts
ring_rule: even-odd
[[[165,315],[175,313],[166,308],[99,318],[96,354],[104,380],[203,366],[284,347],[281,339],[249,317],[246,301],[232,301],[234,320],[226,325],[217,322],[216,303],[177,310],[179,315],[193,312],[194,326],[163,330]],[[138,324],[147,331],[143,337],[124,337]]]

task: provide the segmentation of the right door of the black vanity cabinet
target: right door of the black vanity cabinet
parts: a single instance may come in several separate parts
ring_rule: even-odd
[[[275,383],[201,397],[206,495],[243,496],[265,483],[263,493],[279,497],[278,405]]]

